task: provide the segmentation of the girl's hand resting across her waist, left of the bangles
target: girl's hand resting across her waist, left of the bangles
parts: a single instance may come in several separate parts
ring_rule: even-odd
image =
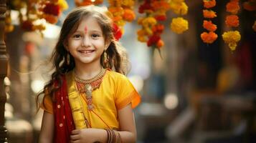
[[[71,143],[93,143],[97,141],[98,129],[75,129],[70,136]]]

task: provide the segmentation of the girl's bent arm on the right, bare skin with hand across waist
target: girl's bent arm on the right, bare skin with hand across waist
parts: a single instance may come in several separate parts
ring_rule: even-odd
[[[136,142],[136,126],[131,104],[118,111],[120,137],[122,142]],[[70,136],[71,142],[107,142],[105,129],[75,129]]]

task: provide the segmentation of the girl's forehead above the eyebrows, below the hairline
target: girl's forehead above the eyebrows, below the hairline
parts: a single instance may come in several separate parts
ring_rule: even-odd
[[[78,24],[77,30],[85,30],[85,29],[87,29],[88,31],[90,30],[102,31],[100,24],[92,16],[82,18],[82,20],[80,21],[80,24]]]

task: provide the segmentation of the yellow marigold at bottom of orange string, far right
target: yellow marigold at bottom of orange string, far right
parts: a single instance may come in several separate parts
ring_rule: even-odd
[[[241,35],[239,31],[227,31],[222,34],[222,39],[226,44],[229,44],[229,48],[234,51],[237,47],[237,42],[241,39]]]

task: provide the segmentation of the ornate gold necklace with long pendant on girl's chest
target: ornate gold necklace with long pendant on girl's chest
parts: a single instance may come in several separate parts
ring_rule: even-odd
[[[74,72],[77,90],[80,94],[85,93],[88,110],[93,110],[93,94],[92,93],[93,93],[93,90],[100,87],[100,84],[105,75],[105,71],[106,69],[101,68],[99,74],[97,74],[92,79],[87,79],[87,80],[80,79],[79,77],[77,77],[77,74]]]

